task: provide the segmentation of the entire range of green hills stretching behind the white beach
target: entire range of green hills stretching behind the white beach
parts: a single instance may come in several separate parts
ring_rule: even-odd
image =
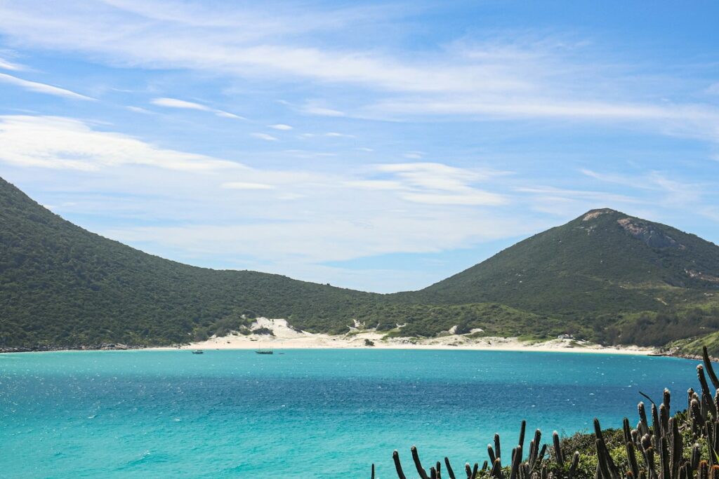
[[[357,320],[388,335],[457,326],[647,345],[719,330],[719,247],[613,210],[397,294],[168,261],[85,231],[1,179],[0,245],[0,348],[183,343],[256,316],[313,332]]]

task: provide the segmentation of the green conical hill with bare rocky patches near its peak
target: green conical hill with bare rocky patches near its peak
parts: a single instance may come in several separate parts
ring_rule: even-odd
[[[656,344],[660,332],[677,337],[716,328],[716,308],[700,307],[714,294],[719,246],[602,209],[405,297],[439,304],[502,302],[591,325],[595,339]],[[638,325],[646,330],[641,336]]]

